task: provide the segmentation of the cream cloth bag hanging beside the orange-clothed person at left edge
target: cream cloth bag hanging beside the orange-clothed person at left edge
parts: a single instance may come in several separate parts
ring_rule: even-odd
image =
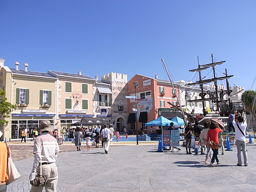
[[[17,171],[13,160],[11,159],[11,154],[10,154],[10,150],[9,150],[9,146],[6,144],[6,148],[7,148],[7,175],[9,177],[9,179],[6,181],[6,185],[9,185],[10,183],[13,183],[13,181],[16,181],[17,179],[20,178],[20,174]]]

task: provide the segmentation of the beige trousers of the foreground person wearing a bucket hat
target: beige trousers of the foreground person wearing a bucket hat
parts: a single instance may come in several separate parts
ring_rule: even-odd
[[[40,164],[37,169],[37,173],[40,174]],[[42,165],[42,175],[45,176],[45,192],[57,192],[56,187],[58,183],[58,169],[54,163]],[[42,192],[43,186],[32,186],[30,192]]]

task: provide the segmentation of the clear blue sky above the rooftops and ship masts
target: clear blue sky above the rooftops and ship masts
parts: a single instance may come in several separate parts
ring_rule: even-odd
[[[28,63],[33,71],[128,79],[166,79],[163,58],[174,80],[188,81],[197,55],[202,65],[212,53],[226,60],[219,71],[227,68],[235,85],[250,89],[255,8],[255,0],[0,0],[0,57],[11,68],[19,61],[20,69]]]

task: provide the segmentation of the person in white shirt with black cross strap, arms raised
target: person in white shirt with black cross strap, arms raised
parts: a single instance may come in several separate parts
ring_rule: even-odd
[[[237,112],[235,112],[237,114]],[[246,152],[246,127],[247,123],[243,119],[240,113],[238,113],[238,123],[235,122],[235,118],[233,118],[233,126],[236,130],[236,147],[237,147],[237,159],[238,163],[237,166],[242,166],[242,159],[241,159],[241,150],[243,151],[243,160],[245,166],[248,166],[248,158],[247,158],[247,152]]]

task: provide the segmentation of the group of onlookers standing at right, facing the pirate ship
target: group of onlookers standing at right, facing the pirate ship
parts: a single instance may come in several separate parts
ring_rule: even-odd
[[[241,151],[243,152],[244,165],[248,166],[247,152],[246,152],[246,127],[247,123],[240,113],[234,111],[230,114],[229,131],[233,129],[235,132],[235,139],[237,145],[237,166],[242,166]],[[217,165],[220,164],[218,159],[219,146],[221,146],[221,155],[224,155],[224,139],[222,133],[224,126],[218,120],[211,120],[204,122],[204,127],[200,127],[198,121],[195,122],[195,126],[192,127],[191,123],[188,123],[185,128],[184,135],[186,138],[186,152],[191,153],[191,138],[195,137],[195,142],[200,146],[201,155],[205,154],[203,151],[206,149],[205,163],[208,163],[208,159],[211,159],[210,166],[214,167],[216,160]],[[193,134],[193,135],[192,135]],[[229,142],[229,141],[227,141]],[[211,151],[213,153],[211,153]],[[195,154],[198,154],[197,148]]]

